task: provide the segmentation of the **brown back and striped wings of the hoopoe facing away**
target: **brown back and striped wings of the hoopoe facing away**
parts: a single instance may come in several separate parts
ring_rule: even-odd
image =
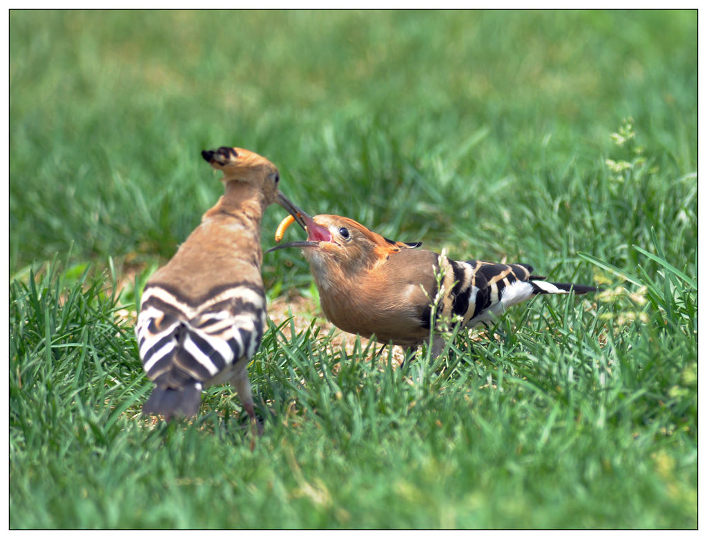
[[[257,225],[217,215],[148,280],[136,334],[158,387],[220,383],[239,368],[238,360],[252,357],[265,319],[261,253]]]

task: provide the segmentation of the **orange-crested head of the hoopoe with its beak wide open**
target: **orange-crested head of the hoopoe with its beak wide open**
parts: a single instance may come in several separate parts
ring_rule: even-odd
[[[275,251],[285,247],[302,247],[312,271],[331,276],[337,271],[344,275],[354,275],[358,271],[372,269],[385,262],[391,255],[403,249],[414,249],[422,242],[405,243],[376,234],[372,230],[348,217],[340,215],[315,215],[302,213],[307,231],[307,240],[278,245],[269,249]],[[293,219],[286,218],[278,227],[275,240],[279,242]],[[268,251],[268,252],[269,252]],[[316,275],[315,275],[316,276]]]

